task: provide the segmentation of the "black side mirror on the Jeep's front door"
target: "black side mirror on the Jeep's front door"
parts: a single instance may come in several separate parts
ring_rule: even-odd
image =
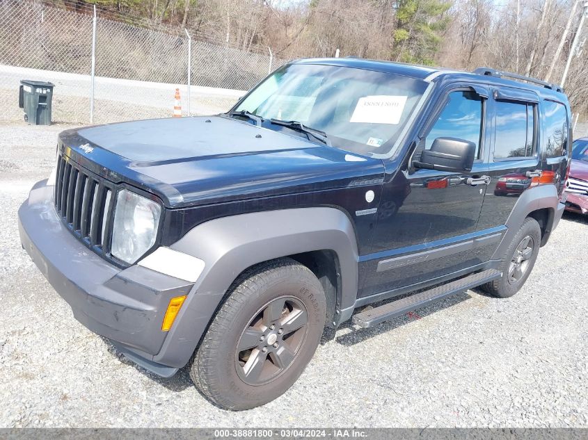
[[[414,161],[415,168],[439,171],[471,171],[476,154],[476,145],[469,140],[457,138],[436,138],[431,149],[424,149],[420,161]]]

